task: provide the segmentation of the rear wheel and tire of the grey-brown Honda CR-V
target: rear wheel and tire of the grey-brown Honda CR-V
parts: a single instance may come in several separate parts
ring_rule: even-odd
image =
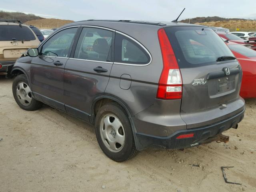
[[[117,103],[106,104],[98,110],[95,132],[100,148],[110,159],[122,162],[138,154],[128,115]]]

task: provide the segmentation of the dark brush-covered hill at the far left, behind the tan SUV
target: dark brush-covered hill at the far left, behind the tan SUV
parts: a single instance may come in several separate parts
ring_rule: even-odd
[[[22,12],[5,12],[0,10],[0,19],[16,19],[25,23],[29,20],[43,19],[43,18],[39,16],[35,16],[34,14],[25,14]]]

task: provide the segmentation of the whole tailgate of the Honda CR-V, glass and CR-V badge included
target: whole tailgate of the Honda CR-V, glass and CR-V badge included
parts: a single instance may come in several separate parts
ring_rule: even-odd
[[[183,81],[180,116],[187,128],[226,119],[244,108],[240,64],[223,40],[204,26],[166,27]]]

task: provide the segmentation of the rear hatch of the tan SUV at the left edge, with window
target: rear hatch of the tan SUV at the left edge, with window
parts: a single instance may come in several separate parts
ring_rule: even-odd
[[[27,26],[0,24],[0,60],[16,60],[28,48],[38,44],[38,39]]]

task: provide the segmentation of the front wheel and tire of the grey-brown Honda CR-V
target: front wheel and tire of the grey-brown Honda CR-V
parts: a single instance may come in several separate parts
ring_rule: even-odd
[[[20,108],[27,111],[38,110],[42,103],[32,97],[28,80],[24,74],[16,76],[12,82],[12,94]]]

